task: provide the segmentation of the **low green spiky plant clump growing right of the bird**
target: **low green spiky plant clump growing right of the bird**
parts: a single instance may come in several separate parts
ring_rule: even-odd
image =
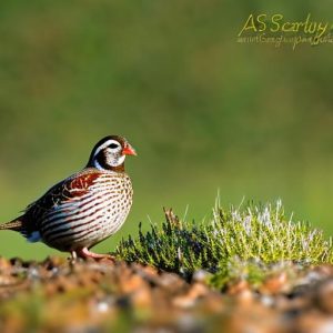
[[[286,219],[281,201],[249,203],[225,210],[219,200],[209,222],[181,221],[164,210],[162,225],[151,224],[139,235],[122,240],[119,259],[140,262],[178,273],[190,280],[198,270],[211,273],[209,283],[223,287],[229,281],[245,279],[260,283],[282,263],[332,263],[332,239],[307,222]]]

